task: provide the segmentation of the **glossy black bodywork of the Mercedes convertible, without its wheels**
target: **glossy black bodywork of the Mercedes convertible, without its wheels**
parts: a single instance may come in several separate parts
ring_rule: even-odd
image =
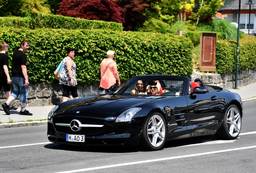
[[[160,81],[163,95],[131,95],[134,84],[143,80]],[[135,76],[111,95],[74,99],[56,107],[48,116],[47,135],[53,143],[69,145],[138,145],[145,122],[153,112],[164,117],[166,141],[218,133],[229,105],[243,114],[242,100],[236,93],[215,86],[205,94],[188,94],[190,79],[182,76]],[[139,108],[130,121],[118,122],[126,110]],[[72,122],[80,122],[80,130]],[[72,122],[71,122],[72,121]],[[85,142],[66,141],[66,135],[85,135]]]

